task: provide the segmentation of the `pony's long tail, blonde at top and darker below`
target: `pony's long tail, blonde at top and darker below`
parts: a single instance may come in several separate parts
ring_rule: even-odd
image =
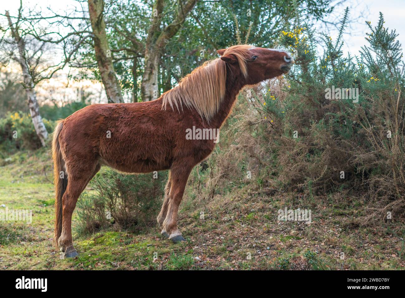
[[[59,145],[59,134],[62,130],[63,120],[60,120],[53,132],[52,159],[53,159],[53,185],[55,186],[55,230],[53,241],[58,249],[58,239],[62,233],[62,196],[68,185],[65,172],[65,162],[62,158]]]

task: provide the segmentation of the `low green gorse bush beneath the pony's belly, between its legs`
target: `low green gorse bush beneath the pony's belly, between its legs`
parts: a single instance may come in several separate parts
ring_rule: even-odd
[[[122,229],[139,229],[156,223],[162,203],[166,172],[126,175],[107,169],[92,179],[96,194],[83,194],[77,202],[79,234],[95,232],[116,223]]]

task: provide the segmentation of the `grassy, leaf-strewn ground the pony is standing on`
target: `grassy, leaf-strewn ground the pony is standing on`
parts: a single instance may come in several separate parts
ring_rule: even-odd
[[[253,193],[249,185],[209,202],[186,196],[179,212],[185,243],[163,239],[157,227],[142,234],[106,230],[74,235],[79,257],[62,259],[52,244],[54,194],[48,153],[11,158],[13,162],[0,168],[0,205],[30,209],[33,217],[32,224],[0,221],[0,269],[368,270],[405,265],[405,226],[394,221],[356,226],[354,214],[361,211],[356,209],[361,204],[356,205],[355,198],[350,204],[316,198],[317,203],[306,207],[313,217],[308,225],[277,221],[278,209],[294,208],[294,194],[267,196],[256,191],[247,197]]]

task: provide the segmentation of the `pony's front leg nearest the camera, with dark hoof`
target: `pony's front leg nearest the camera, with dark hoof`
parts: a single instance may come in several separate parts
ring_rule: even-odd
[[[174,243],[185,241],[177,227],[177,212],[190,172],[191,168],[185,168],[184,165],[171,168],[170,196],[166,218],[163,221],[163,231],[166,231],[169,239]]]

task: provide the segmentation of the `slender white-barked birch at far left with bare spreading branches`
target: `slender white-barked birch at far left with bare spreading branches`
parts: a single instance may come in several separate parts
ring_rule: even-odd
[[[23,17],[22,0],[20,0],[17,16],[11,15],[9,11],[0,15],[6,19],[6,25],[0,26],[2,33],[0,36],[0,63],[2,65],[17,63],[21,68],[21,85],[26,92],[32,123],[41,144],[45,147],[48,132],[40,115],[36,86],[40,81],[50,79],[58,70],[63,69],[83,41],[89,38],[91,34],[82,36],[81,34],[84,34],[85,31],[79,32],[81,39],[75,40],[71,44],[72,47],[68,46],[66,36],[56,41],[38,39],[34,27],[37,27],[38,31],[42,31],[40,21],[45,18],[41,13],[34,13],[29,9],[28,17]],[[71,35],[68,34],[67,36]],[[54,47],[60,42],[63,42],[62,58],[58,59],[54,55],[55,48],[52,49],[53,53],[51,53],[50,46]]]

